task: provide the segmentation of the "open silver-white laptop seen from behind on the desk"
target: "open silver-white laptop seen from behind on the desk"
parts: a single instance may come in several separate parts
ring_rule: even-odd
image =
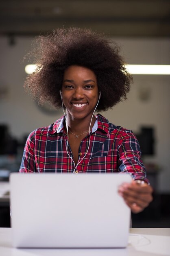
[[[118,186],[123,173],[12,173],[13,247],[123,248],[130,209]]]

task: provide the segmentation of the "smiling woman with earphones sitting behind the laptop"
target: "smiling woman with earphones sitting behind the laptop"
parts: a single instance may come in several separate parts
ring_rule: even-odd
[[[63,106],[66,115],[31,132],[20,172],[127,172],[133,182],[118,192],[133,213],[142,211],[152,201],[152,188],[138,141],[130,130],[94,115],[129,92],[131,76],[116,45],[90,30],[57,29],[37,37],[30,55],[38,68],[25,87],[39,103]]]

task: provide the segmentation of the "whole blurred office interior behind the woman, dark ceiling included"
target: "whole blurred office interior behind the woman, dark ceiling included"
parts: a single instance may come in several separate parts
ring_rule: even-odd
[[[105,33],[118,43],[125,63],[170,64],[168,0],[0,2],[0,176],[3,180],[7,179],[5,171],[18,171],[27,135],[63,115],[62,111],[49,110],[49,106],[40,108],[24,91],[24,68],[33,60],[30,63],[22,60],[36,35],[63,25],[86,27]],[[134,223],[137,227],[170,227],[170,76],[133,75],[128,99],[101,114],[113,124],[133,130],[139,141],[148,141],[143,160],[155,198],[150,211],[146,209],[138,217],[134,216]],[[144,131],[148,131],[148,137]],[[10,136],[8,145],[5,136]],[[6,220],[0,216],[2,225]]]

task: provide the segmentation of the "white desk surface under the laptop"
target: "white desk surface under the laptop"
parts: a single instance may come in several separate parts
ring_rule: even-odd
[[[1,256],[170,256],[170,228],[130,229],[126,249],[15,249],[11,228],[0,228]]]

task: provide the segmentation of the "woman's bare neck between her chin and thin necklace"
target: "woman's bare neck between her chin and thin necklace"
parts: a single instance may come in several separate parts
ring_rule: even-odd
[[[68,128],[71,132],[74,132],[75,134],[86,132],[89,130],[91,118],[92,116],[88,119],[72,119],[69,115],[67,115]],[[94,126],[95,121],[96,117],[93,115],[90,130]]]

